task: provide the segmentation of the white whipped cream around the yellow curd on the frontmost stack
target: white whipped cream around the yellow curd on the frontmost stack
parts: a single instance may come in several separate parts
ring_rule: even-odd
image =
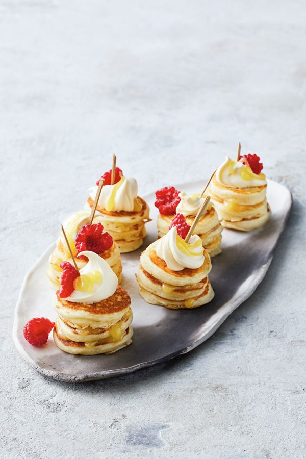
[[[110,265],[97,253],[90,250],[80,252],[80,255],[85,255],[88,258],[87,264],[80,269],[81,276],[91,276],[100,278],[100,282],[94,284],[94,291],[88,293],[86,291],[74,290],[65,300],[73,303],[96,303],[112,296],[118,285],[118,277],[110,267]],[[97,276],[97,273],[100,275]]]

